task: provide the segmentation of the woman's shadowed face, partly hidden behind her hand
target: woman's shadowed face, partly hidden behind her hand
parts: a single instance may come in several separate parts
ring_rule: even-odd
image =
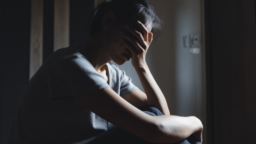
[[[132,37],[135,37],[127,29],[125,29],[126,25],[128,25],[128,23],[112,25],[112,27],[106,33],[106,37],[105,37],[106,38],[105,43],[107,43],[106,47],[108,47],[107,53],[111,58],[111,60],[118,65],[124,64],[126,61],[128,61],[132,57],[130,50],[121,41],[121,38],[124,38],[121,35],[121,32],[124,32],[125,34],[128,34]],[[139,28],[136,22],[134,22],[134,24],[129,24],[128,26],[142,33],[142,30]],[[152,24],[148,24],[146,26],[146,29],[149,32],[151,31],[151,28],[152,28]]]

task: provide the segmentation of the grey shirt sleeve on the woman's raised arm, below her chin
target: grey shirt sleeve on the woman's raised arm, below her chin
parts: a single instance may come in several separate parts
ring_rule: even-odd
[[[131,82],[131,78],[126,75],[125,71],[121,71],[122,79],[121,79],[121,86],[120,86],[120,96],[126,95],[136,89],[139,89],[137,86],[134,86]]]

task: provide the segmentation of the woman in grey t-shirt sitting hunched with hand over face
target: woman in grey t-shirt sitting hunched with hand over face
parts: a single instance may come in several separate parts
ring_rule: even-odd
[[[30,80],[9,144],[190,144],[189,136],[202,142],[201,121],[170,115],[146,65],[161,27],[153,6],[112,0],[95,12],[90,40],[54,52]],[[145,93],[108,63],[130,58]]]

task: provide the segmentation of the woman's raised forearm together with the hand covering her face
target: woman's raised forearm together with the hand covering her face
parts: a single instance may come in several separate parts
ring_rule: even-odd
[[[137,25],[142,30],[142,33],[131,27],[126,27],[131,34],[121,33],[124,37],[122,41],[132,53],[132,65],[135,68],[146,93],[147,104],[155,106],[164,115],[170,115],[163,93],[149,71],[145,61],[145,55],[153,37],[153,34],[148,32],[148,29],[151,28],[150,26],[149,28],[145,28],[144,24],[139,21],[137,22]]]

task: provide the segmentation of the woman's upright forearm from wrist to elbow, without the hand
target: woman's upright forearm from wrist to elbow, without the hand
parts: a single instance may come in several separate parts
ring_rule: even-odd
[[[150,70],[148,69],[146,63],[141,67],[135,68],[135,70],[140,78],[145,94],[147,96],[147,104],[155,106],[164,115],[170,115],[164,95],[160,90],[160,87],[157,85]]]

